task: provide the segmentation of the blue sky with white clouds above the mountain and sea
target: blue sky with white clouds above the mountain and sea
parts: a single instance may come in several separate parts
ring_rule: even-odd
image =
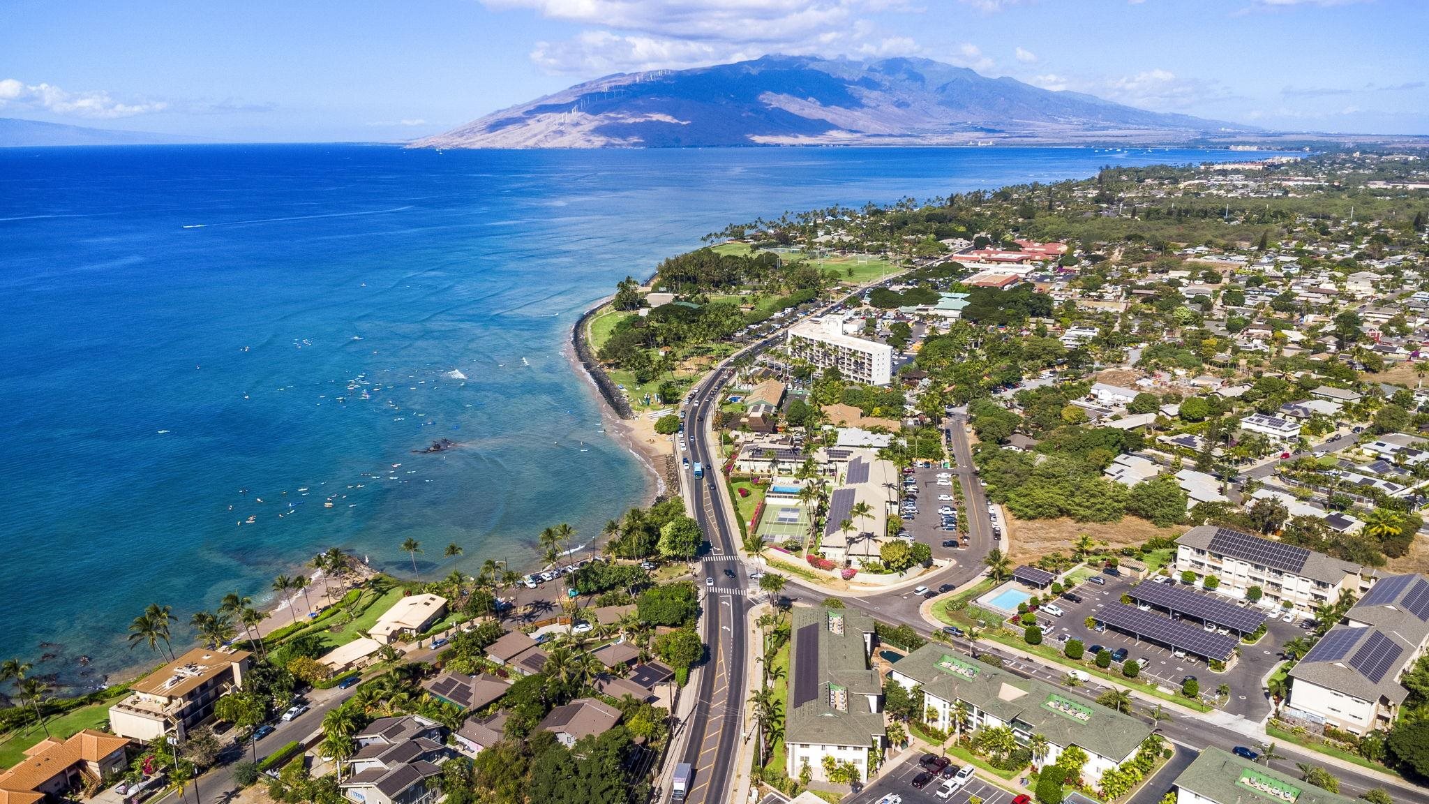
[[[0,0],[0,117],[389,142],[609,73],[796,53],[1429,134],[1426,34],[1429,0]]]

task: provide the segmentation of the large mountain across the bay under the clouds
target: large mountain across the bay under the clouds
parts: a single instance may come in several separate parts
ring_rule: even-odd
[[[699,147],[1185,142],[1250,126],[1146,112],[929,59],[766,56],[619,73],[413,147]]]

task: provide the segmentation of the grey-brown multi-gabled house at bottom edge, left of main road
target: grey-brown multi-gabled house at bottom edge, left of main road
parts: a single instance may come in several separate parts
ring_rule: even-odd
[[[354,734],[352,775],[337,787],[360,804],[432,804],[440,793],[434,777],[450,755],[446,727],[422,715],[374,720]]]

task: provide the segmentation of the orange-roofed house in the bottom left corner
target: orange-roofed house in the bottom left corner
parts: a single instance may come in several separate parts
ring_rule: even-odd
[[[0,804],[60,801],[124,770],[129,740],[86,728],[60,742],[44,740],[24,752],[24,760],[0,771]]]

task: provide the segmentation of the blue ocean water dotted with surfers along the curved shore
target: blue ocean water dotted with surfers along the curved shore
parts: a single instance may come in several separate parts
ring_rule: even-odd
[[[652,489],[569,329],[726,223],[1246,156],[0,149],[0,658],[91,682],[150,660],[146,604],[262,599],[332,545],[410,574],[413,536],[434,577],[597,534]]]

